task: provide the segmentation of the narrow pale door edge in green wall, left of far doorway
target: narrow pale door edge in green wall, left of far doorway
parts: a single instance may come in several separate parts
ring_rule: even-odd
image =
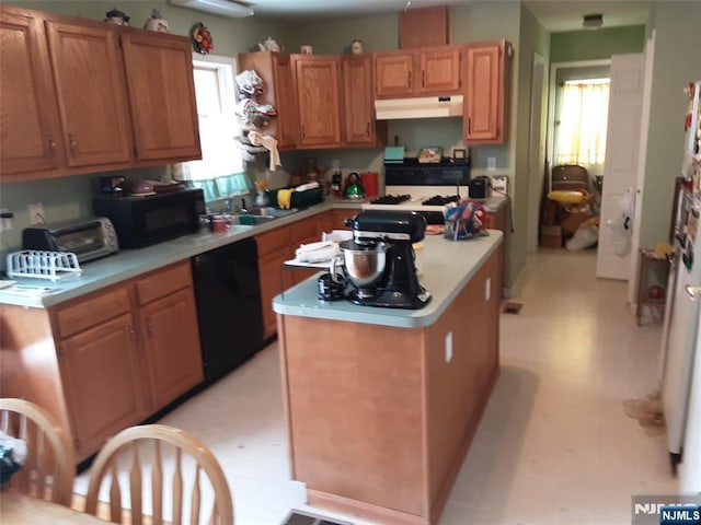
[[[542,200],[545,170],[545,128],[543,122],[544,100],[543,57],[533,54],[533,68],[530,94],[530,145],[528,150],[528,222],[526,250],[533,254],[538,250],[538,231],[540,202]]]

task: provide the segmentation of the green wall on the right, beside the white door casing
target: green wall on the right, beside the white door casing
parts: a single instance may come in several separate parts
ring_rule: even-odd
[[[655,62],[641,246],[667,242],[674,179],[680,175],[683,153],[688,104],[683,88],[690,81],[701,80],[701,2],[667,1],[655,5]]]

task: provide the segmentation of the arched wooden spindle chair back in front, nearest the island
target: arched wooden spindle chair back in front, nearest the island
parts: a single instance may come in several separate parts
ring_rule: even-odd
[[[101,488],[106,516],[99,513]],[[85,512],[133,525],[233,524],[231,491],[215,456],[194,435],[164,424],[131,427],[105,444],[90,470]]]

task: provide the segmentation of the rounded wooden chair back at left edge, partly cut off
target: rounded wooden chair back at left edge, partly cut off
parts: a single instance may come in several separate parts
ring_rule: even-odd
[[[27,457],[8,485],[33,498],[70,506],[76,465],[68,434],[42,407],[0,398],[0,431],[26,443]]]

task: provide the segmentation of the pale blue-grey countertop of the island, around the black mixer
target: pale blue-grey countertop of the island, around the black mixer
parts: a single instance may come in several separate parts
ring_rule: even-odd
[[[360,306],[344,300],[321,301],[317,277],[312,277],[277,295],[273,300],[273,310],[283,315],[400,328],[430,326],[501,245],[503,233],[498,230],[490,230],[489,233],[458,242],[448,241],[443,235],[427,235],[422,241],[423,271],[418,280],[432,294],[430,302],[423,308],[382,308]]]

